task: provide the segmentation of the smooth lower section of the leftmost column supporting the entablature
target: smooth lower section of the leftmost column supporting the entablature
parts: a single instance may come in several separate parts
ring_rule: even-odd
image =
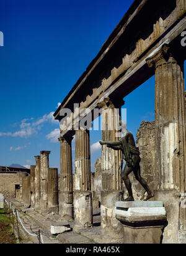
[[[59,191],[59,215],[61,220],[73,220],[73,192]]]

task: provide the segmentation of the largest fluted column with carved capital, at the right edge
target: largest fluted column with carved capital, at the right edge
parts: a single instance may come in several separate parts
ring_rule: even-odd
[[[163,242],[175,243],[186,231],[186,209],[180,204],[186,191],[184,60],[164,45],[147,61],[156,74],[154,199],[166,207]]]

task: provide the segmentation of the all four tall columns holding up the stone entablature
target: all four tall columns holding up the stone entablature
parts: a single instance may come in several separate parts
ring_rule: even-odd
[[[155,83],[155,133],[156,133],[156,189],[154,199],[164,202],[169,225],[165,229],[164,237],[168,241],[176,241],[177,237],[169,239],[170,230],[186,231],[186,209],[180,207],[180,195],[186,193],[186,159],[185,159],[185,93],[184,93],[184,59],[170,51],[164,45],[156,54],[146,60],[149,68],[154,68]],[[120,120],[113,116],[114,108],[122,104],[113,103],[105,98],[99,104],[102,108],[102,140],[118,140],[115,133],[115,122]],[[112,126],[112,129],[108,129]],[[72,138],[61,137],[61,193],[68,194],[60,202],[60,214],[73,218],[73,188],[72,188]],[[89,131],[76,131],[76,161],[75,161],[75,191],[74,191],[74,218],[75,223],[81,226],[92,225],[92,207],[90,192],[90,139]],[[120,164],[122,155],[102,146],[102,193],[101,217],[102,234],[112,234],[122,237],[122,227],[115,219],[115,201],[123,197],[122,169]],[[70,200],[69,200],[69,195]],[[63,196],[64,198],[64,196]],[[170,208],[170,200],[171,207]],[[68,205],[64,207],[63,205]],[[175,210],[175,211],[174,211]],[[176,212],[176,214],[174,213]],[[84,219],[84,221],[83,221]],[[175,232],[175,234],[178,234]]]

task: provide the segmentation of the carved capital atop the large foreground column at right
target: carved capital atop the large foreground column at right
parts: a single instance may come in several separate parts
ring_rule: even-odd
[[[170,46],[168,44],[164,44],[154,55],[146,59],[146,62],[149,67],[156,68],[165,62],[176,62],[176,60],[172,55],[172,49],[170,49]]]

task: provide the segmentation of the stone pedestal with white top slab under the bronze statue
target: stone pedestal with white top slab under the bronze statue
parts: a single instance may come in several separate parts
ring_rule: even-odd
[[[167,224],[161,201],[116,202],[116,218],[123,225],[124,244],[160,244]]]

